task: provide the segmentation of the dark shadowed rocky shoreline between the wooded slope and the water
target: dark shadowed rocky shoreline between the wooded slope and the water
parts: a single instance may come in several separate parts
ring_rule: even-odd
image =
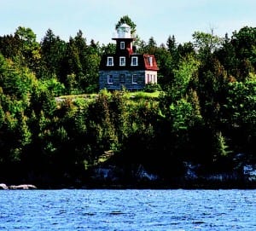
[[[118,165],[100,165],[84,174],[84,177],[68,177],[65,180],[52,176],[42,178],[21,178],[20,182],[32,184],[0,183],[0,189],[255,189],[256,165],[242,165],[240,170],[200,173],[198,165],[186,163],[185,171],[179,176],[164,178],[138,165],[133,170],[124,170]],[[8,182],[8,181],[7,181]],[[15,181],[16,183],[19,181]]]

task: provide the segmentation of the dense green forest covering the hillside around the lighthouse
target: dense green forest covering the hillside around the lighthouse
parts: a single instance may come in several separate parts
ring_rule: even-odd
[[[188,43],[137,36],[136,45],[160,70],[158,84],[131,97],[98,90],[114,43],[87,42],[81,31],[64,41],[50,29],[38,42],[23,26],[0,37],[0,182],[86,183],[105,162],[163,179],[185,163],[201,172],[255,165],[256,27],[195,32]]]

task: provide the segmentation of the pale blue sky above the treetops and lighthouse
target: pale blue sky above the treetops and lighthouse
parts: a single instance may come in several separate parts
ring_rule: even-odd
[[[256,26],[255,0],[0,0],[0,36],[29,27],[42,41],[48,29],[68,41],[81,30],[86,41],[113,43],[114,28],[128,15],[137,35],[158,45],[174,35],[192,42],[194,32],[224,37],[243,26]]]

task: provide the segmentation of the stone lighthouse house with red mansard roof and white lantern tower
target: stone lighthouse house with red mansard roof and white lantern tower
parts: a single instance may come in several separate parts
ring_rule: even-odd
[[[158,66],[154,55],[137,54],[131,27],[117,29],[115,54],[102,55],[99,72],[100,90],[142,90],[146,84],[157,84]]]

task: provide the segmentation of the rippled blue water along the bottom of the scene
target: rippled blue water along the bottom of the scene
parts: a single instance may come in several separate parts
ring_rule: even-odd
[[[2,190],[0,230],[256,230],[256,190]]]

